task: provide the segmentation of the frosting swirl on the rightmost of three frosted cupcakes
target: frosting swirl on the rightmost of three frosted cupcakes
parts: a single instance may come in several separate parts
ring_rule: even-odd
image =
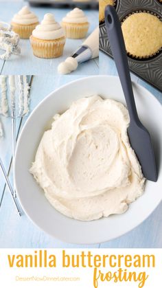
[[[88,19],[84,12],[79,8],[74,8],[71,10],[71,12],[67,13],[67,16],[65,16],[62,19],[62,22],[67,23],[88,23]]]

